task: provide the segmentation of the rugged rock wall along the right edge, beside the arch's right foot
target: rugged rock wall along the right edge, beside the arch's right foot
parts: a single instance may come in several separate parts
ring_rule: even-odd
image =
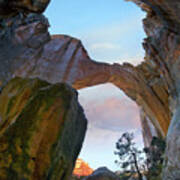
[[[144,42],[146,62],[153,62],[166,85],[167,102],[171,109],[171,124],[167,134],[167,149],[163,180],[180,177],[180,118],[179,118],[179,63],[180,63],[180,2],[178,0],[136,0],[146,10]]]

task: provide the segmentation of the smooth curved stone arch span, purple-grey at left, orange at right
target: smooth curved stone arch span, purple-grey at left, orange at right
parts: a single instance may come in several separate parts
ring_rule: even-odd
[[[18,59],[20,60],[22,57],[19,56]],[[52,63],[52,60],[56,62]],[[168,94],[163,88],[163,82],[160,82],[160,88],[164,91],[162,99],[157,95],[159,87],[156,84],[151,86],[151,82],[147,84],[149,69],[153,70],[151,65],[145,63],[134,67],[130,64],[109,65],[95,62],[88,56],[79,40],[56,35],[52,36],[51,40],[44,45],[38,59],[22,63],[14,74],[21,77],[39,77],[51,83],[66,82],[75,89],[106,82],[113,83],[143,107],[159,134],[164,137],[170,117],[169,109],[163,101],[166,101]],[[144,74],[141,73],[143,71]],[[154,74],[158,78],[155,70]],[[149,78],[152,79],[152,77]],[[156,83],[159,83],[160,80],[157,80]]]

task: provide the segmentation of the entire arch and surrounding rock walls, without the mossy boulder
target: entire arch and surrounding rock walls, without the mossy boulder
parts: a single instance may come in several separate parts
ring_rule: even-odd
[[[14,76],[38,77],[50,83],[67,82],[76,89],[113,83],[136,101],[159,136],[165,137],[168,131],[164,180],[174,180],[180,177],[180,2],[131,1],[147,12],[143,20],[146,56],[136,67],[128,63],[97,63],[91,60],[79,40],[50,36],[47,19],[36,14],[44,10],[48,0],[34,0],[30,4],[28,0],[2,0],[1,86]],[[15,13],[6,13],[4,9]]]

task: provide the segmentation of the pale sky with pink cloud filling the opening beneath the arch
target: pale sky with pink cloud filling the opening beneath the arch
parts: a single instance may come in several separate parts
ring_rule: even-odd
[[[106,166],[118,171],[120,167],[114,163],[117,160],[114,151],[122,133],[133,132],[137,146],[143,148],[138,106],[110,83],[79,90],[79,101],[88,119],[79,158],[94,170]]]

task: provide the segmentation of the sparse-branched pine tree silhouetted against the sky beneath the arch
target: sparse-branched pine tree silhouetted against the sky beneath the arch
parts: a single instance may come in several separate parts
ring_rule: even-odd
[[[140,170],[140,163],[143,160],[141,157],[142,151],[139,151],[135,147],[133,139],[133,133],[126,132],[121,136],[116,143],[115,155],[119,156],[119,160],[115,161],[115,163],[121,165],[121,168],[123,169],[129,168],[131,169],[131,172],[136,172],[139,180],[142,180],[143,178]]]

